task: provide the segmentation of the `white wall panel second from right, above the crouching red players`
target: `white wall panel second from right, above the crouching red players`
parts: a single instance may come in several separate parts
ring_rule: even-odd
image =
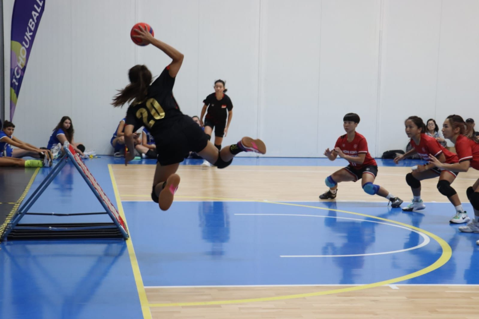
[[[441,1],[385,1],[383,9],[379,151],[405,148],[409,116],[436,116]]]

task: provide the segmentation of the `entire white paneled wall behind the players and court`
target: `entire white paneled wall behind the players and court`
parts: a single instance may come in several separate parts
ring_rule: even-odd
[[[4,0],[5,74],[12,7]],[[128,69],[159,75],[170,62],[129,39],[144,21],[185,54],[174,88],[184,113],[199,115],[214,81],[227,81],[235,108],[224,145],[259,136],[268,156],[319,157],[356,112],[380,156],[405,148],[408,116],[478,118],[478,15],[477,0],[46,0],[15,135],[44,146],[69,115],[77,142],[110,154],[126,107],[109,103]]]

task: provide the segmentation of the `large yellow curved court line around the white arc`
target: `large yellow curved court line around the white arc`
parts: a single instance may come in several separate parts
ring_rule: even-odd
[[[178,196],[179,197],[179,196]],[[203,199],[223,199],[223,200],[236,200],[232,198],[217,198],[217,197],[201,197],[201,196],[182,196],[182,197],[189,197],[189,198],[203,198]],[[244,200],[239,200],[238,201],[244,201]],[[434,262],[432,265],[423,268],[419,271],[416,271],[414,273],[389,279],[389,280],[384,280],[372,284],[367,284],[367,285],[362,285],[362,286],[354,286],[354,287],[348,287],[348,288],[341,288],[341,289],[334,289],[334,290],[328,290],[328,291],[321,291],[321,292],[315,292],[315,293],[307,293],[307,294],[296,294],[296,295],[286,295],[286,296],[275,296],[275,297],[264,297],[264,298],[251,298],[251,299],[237,299],[237,300],[222,300],[222,301],[209,301],[209,302],[194,302],[194,303],[165,303],[165,304],[148,304],[149,307],[185,307],[185,306],[207,306],[207,305],[227,305],[227,304],[242,304],[242,303],[255,303],[255,302],[263,302],[263,301],[277,301],[277,300],[287,300],[287,299],[297,299],[297,298],[306,298],[306,297],[315,297],[315,296],[325,296],[325,295],[333,295],[333,294],[340,294],[340,293],[346,293],[346,292],[353,292],[353,291],[358,291],[358,290],[364,290],[364,289],[369,289],[369,288],[375,288],[375,287],[380,287],[380,286],[385,286],[385,285],[391,285],[394,283],[398,283],[401,281],[409,280],[412,278],[416,278],[422,275],[425,275],[427,273],[430,273],[443,265],[445,265],[449,259],[451,259],[452,256],[452,248],[449,246],[449,244],[442,239],[441,237],[428,232],[424,229],[408,225],[405,223],[401,223],[395,220],[390,220],[386,218],[381,218],[381,217],[376,217],[372,215],[366,215],[366,214],[361,214],[361,213],[355,213],[351,211],[346,211],[346,210],[339,210],[339,209],[331,209],[331,208],[323,208],[323,207],[316,207],[316,206],[308,206],[308,205],[300,205],[300,204],[291,204],[291,203],[282,203],[282,202],[274,202],[274,201],[259,201],[259,200],[249,200],[250,202],[261,202],[261,203],[271,203],[271,204],[279,204],[279,205],[288,205],[288,206],[298,206],[298,207],[307,207],[307,208],[314,208],[314,209],[322,209],[322,210],[333,210],[337,212],[342,212],[342,213],[347,213],[347,214],[353,214],[353,215],[358,215],[358,216],[363,216],[363,217],[368,217],[368,218],[373,218],[373,219],[379,219],[383,221],[387,221],[390,223],[402,225],[405,227],[408,227],[410,229],[417,230],[423,234],[426,234],[427,236],[432,237],[434,240],[436,240],[439,245],[441,246],[441,249],[443,253],[441,256]]]

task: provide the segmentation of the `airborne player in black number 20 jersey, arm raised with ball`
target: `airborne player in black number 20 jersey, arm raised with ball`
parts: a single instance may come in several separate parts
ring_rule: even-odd
[[[244,137],[238,144],[218,151],[201,127],[180,111],[173,96],[173,86],[183,63],[183,54],[155,39],[146,28],[140,27],[137,33],[136,37],[142,39],[143,43],[153,44],[173,61],[153,83],[151,72],[145,65],[132,67],[128,73],[130,84],[115,95],[112,105],[118,107],[132,102],[126,113],[124,133],[128,153],[125,165],[135,158],[133,132],[142,126],[150,131],[157,150],[161,150],[158,152],[151,197],[159,203],[160,209],[167,210],[173,203],[180,183],[176,171],[190,151],[198,153],[218,168],[225,168],[240,152],[265,154],[266,146],[261,140]]]

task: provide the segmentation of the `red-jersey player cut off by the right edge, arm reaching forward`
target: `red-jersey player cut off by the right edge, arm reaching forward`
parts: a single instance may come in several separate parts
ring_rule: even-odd
[[[438,168],[454,171],[468,171],[470,167],[479,170],[479,139],[474,134],[473,126],[464,122],[459,115],[450,115],[444,121],[443,135],[456,147],[459,162],[454,164],[442,163],[434,155],[430,160]],[[474,208],[474,219],[466,226],[459,227],[459,230],[466,233],[479,233],[479,179],[466,191],[468,199]]]

